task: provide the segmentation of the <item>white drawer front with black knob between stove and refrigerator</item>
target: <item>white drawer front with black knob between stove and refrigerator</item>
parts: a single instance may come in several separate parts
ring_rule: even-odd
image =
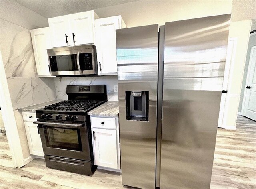
[[[116,118],[91,117],[92,128],[116,128]]]

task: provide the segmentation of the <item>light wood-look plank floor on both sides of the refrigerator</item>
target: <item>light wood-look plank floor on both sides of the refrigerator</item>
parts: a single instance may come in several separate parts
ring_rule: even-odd
[[[256,122],[238,116],[236,130],[218,129],[211,189],[256,188]],[[84,176],[46,167],[34,159],[21,169],[0,166],[0,188],[122,188],[120,173]]]

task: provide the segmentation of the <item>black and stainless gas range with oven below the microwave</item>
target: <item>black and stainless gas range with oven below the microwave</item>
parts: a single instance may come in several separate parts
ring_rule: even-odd
[[[94,159],[87,112],[107,101],[105,85],[68,85],[68,100],[36,110],[46,166],[90,175]]]

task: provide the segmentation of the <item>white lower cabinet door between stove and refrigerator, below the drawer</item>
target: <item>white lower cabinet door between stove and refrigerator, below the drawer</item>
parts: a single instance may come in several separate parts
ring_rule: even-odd
[[[118,168],[116,130],[92,129],[94,164]]]

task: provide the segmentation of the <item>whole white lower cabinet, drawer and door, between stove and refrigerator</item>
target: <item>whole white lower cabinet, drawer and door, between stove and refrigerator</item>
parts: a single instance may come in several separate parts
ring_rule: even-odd
[[[118,117],[114,118],[114,125],[104,128],[102,125],[110,123],[108,119],[112,122],[113,117],[91,117],[94,164],[120,170]],[[96,124],[98,122],[101,124]]]

